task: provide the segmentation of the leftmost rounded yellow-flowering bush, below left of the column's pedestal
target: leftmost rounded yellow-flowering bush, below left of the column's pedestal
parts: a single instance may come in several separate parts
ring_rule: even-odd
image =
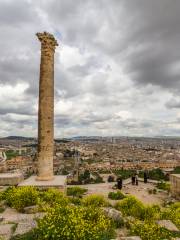
[[[23,211],[25,207],[36,205],[39,201],[38,191],[31,186],[8,188],[4,197],[8,206]]]

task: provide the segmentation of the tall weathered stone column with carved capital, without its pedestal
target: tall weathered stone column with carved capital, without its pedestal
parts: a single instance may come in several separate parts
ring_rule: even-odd
[[[52,34],[44,32],[36,35],[41,42],[37,180],[51,180],[54,155],[54,53],[58,44]]]

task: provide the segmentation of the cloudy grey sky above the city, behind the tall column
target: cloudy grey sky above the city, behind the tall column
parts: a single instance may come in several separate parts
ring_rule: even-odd
[[[180,135],[179,0],[0,0],[0,136],[37,136],[40,43],[55,136]]]

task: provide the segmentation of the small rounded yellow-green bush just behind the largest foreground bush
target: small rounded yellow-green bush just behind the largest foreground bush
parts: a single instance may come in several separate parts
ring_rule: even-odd
[[[91,194],[82,200],[84,206],[105,207],[108,206],[108,201],[102,195]]]

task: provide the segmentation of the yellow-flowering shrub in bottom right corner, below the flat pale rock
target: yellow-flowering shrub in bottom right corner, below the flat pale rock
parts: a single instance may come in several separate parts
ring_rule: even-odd
[[[142,240],[162,240],[173,237],[173,233],[153,222],[136,221],[131,225],[130,232],[132,235],[140,236]]]

